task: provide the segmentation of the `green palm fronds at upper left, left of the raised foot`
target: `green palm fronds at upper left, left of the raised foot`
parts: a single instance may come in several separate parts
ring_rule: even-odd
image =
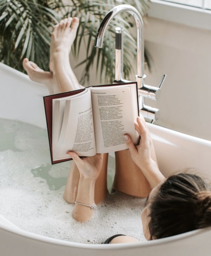
[[[47,70],[51,28],[59,20],[47,1],[0,1],[0,60],[23,71],[27,57]]]

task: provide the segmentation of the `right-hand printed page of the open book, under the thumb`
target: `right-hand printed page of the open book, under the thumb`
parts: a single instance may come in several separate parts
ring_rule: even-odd
[[[96,152],[127,149],[124,133],[129,134],[137,144],[139,136],[134,126],[130,87],[92,87],[91,97]]]

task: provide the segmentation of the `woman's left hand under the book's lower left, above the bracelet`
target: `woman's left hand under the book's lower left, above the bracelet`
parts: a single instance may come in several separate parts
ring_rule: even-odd
[[[103,154],[96,154],[92,157],[79,158],[75,152],[67,152],[75,162],[80,175],[86,179],[96,180],[101,172]]]

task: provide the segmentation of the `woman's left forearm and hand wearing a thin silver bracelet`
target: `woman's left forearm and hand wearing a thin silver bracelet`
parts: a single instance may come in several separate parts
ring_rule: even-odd
[[[95,182],[102,169],[103,154],[79,158],[74,152],[68,152],[80,172],[76,203],[73,218],[84,222],[91,218],[95,205]],[[82,203],[82,204],[80,204]]]

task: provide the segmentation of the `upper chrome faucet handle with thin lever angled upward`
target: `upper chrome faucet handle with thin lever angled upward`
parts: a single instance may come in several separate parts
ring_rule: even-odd
[[[139,96],[157,100],[160,97],[160,87],[164,83],[165,78],[166,78],[166,75],[164,74],[158,87],[151,86],[151,85],[143,85],[139,89]]]

